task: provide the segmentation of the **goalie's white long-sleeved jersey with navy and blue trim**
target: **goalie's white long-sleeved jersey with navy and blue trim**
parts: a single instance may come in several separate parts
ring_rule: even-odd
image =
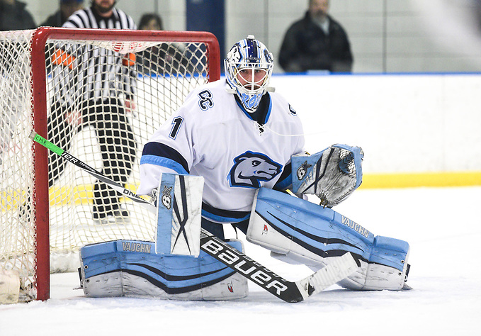
[[[228,88],[220,80],[191,91],[154,133],[142,152],[139,194],[156,189],[162,172],[199,175],[203,216],[237,223],[249,217],[256,189],[290,187],[290,157],[304,147],[297,113],[282,96],[266,93],[254,121]]]

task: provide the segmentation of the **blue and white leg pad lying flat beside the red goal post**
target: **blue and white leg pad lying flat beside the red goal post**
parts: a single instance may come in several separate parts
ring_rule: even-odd
[[[228,244],[243,251],[242,242]],[[244,298],[247,279],[201,251],[199,257],[156,254],[154,243],[116,240],[81,248],[86,296],[227,301]]]

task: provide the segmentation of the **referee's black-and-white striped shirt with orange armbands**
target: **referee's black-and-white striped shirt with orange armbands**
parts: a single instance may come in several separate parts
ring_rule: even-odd
[[[76,11],[63,25],[64,28],[137,29],[133,19],[120,9],[113,9],[109,18],[99,16],[91,8]],[[91,44],[68,43],[59,45],[64,53],[57,59],[54,85],[57,99],[72,105],[82,100],[108,98],[132,99],[135,94],[137,73],[129,55]],[[66,55],[65,55],[66,54]],[[127,57],[127,58],[125,58]],[[127,62],[126,62],[127,60]]]

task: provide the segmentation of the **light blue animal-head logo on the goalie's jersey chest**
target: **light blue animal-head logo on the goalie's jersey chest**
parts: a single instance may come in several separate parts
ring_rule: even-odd
[[[267,155],[247,151],[234,159],[230,169],[230,186],[260,188],[261,181],[271,181],[281,172],[282,165]]]

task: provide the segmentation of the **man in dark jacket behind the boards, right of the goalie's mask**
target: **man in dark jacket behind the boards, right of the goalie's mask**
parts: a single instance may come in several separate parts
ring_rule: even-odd
[[[285,72],[351,72],[353,57],[344,28],[327,14],[329,0],[310,0],[304,18],[285,33],[279,64]]]

